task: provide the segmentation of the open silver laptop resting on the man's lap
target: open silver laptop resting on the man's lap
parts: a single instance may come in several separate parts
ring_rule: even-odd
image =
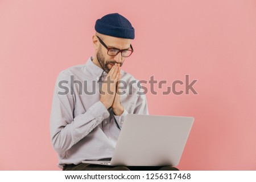
[[[110,166],[177,166],[193,117],[128,114],[111,160],[82,163]]]

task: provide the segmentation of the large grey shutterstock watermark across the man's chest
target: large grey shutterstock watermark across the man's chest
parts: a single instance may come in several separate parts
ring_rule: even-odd
[[[175,80],[171,84],[167,83],[167,80],[155,80],[154,75],[150,77],[150,79],[147,80],[141,80],[141,81],[135,81],[132,80],[130,82],[126,82],[123,80],[119,81],[119,84],[117,85],[117,92],[119,95],[144,95],[150,92],[152,95],[198,95],[198,92],[194,88],[195,83],[198,81],[198,79],[189,79],[189,75],[185,75],[184,80]],[[99,91],[101,94],[114,94],[113,91],[108,89],[106,92],[100,90],[102,87],[102,84],[107,84],[107,87],[110,88],[111,84],[114,84],[114,81],[110,79],[110,77],[106,77],[104,81],[79,81],[75,80],[74,76],[71,75],[69,81],[63,80],[59,81],[58,86],[63,91],[59,91],[59,95],[66,95],[71,94],[74,95],[74,90],[78,92],[79,95],[82,95],[83,93],[86,95],[95,95]],[[146,87],[144,84],[149,84],[148,87]],[[134,87],[139,87],[139,91],[134,92]],[[164,88],[165,87],[165,88]]]

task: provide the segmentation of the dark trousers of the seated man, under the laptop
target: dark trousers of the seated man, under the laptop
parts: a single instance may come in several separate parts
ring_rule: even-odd
[[[172,166],[102,166],[97,164],[65,164],[63,171],[179,171]]]

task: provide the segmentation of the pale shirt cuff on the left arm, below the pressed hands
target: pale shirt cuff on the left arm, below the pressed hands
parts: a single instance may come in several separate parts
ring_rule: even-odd
[[[101,101],[97,101],[97,103],[93,104],[88,111],[92,113],[95,118],[100,119],[101,121],[105,118],[109,117],[109,111],[106,107],[102,104]]]

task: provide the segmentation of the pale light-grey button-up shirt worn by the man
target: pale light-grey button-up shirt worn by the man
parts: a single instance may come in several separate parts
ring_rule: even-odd
[[[120,98],[125,110],[115,116],[111,108],[106,109],[100,101],[98,80],[105,80],[107,73],[92,59],[61,71],[57,77],[50,126],[60,168],[82,160],[111,158],[127,113],[148,114],[146,96],[138,94],[143,93],[138,80],[123,70],[121,80],[129,86],[123,88],[126,94]]]

